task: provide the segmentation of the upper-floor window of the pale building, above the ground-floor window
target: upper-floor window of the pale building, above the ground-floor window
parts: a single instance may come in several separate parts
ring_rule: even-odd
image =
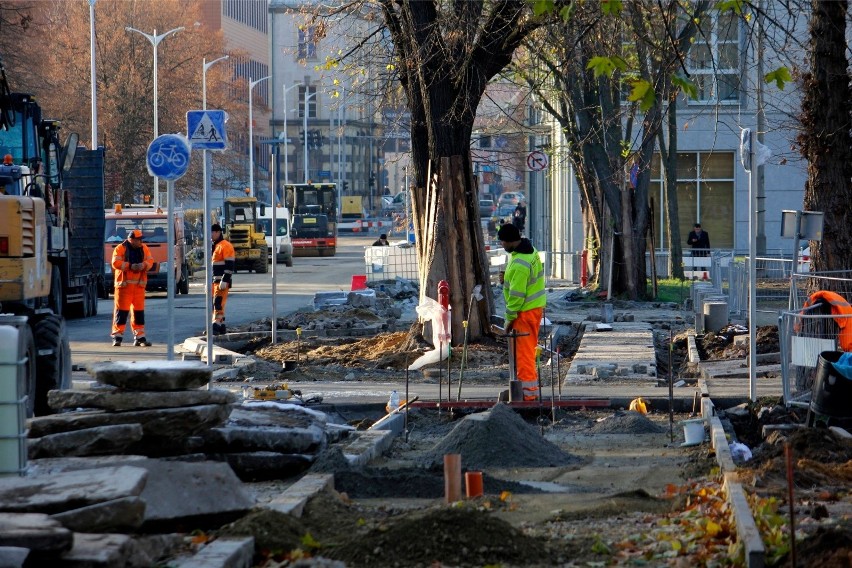
[[[711,12],[702,20],[687,66],[698,87],[698,103],[738,103],[740,26],[733,10]]]

